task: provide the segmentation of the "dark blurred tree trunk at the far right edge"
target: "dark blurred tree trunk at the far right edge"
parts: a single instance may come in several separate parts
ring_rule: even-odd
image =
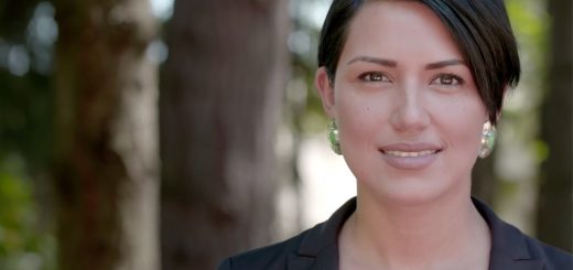
[[[549,0],[551,43],[548,95],[543,105],[542,139],[549,158],[542,165],[539,191],[538,237],[572,251],[573,245],[573,7],[572,1]]]

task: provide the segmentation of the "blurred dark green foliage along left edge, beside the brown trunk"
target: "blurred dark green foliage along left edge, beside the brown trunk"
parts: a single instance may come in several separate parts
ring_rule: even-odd
[[[53,17],[47,1],[0,1],[0,269],[55,269],[46,173]]]

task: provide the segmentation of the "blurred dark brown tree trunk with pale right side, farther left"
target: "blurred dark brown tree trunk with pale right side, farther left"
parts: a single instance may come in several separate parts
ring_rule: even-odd
[[[63,270],[159,268],[155,35],[147,0],[56,0]]]

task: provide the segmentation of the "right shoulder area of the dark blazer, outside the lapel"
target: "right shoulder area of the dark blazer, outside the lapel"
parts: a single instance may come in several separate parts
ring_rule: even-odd
[[[573,255],[527,235],[523,236],[531,256],[543,261],[543,269],[573,269]]]

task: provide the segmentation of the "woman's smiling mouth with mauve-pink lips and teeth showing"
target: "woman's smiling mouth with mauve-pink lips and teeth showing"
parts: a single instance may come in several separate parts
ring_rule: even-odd
[[[421,170],[432,164],[442,148],[433,143],[396,143],[379,149],[383,160],[399,170]]]

